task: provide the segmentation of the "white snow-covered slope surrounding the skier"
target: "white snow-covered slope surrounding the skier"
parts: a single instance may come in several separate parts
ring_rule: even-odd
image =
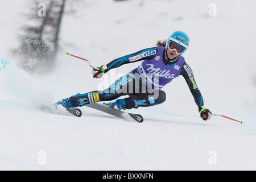
[[[30,76],[16,68],[9,50],[18,44],[20,13],[30,14],[31,2],[3,2],[0,58],[10,63],[0,69],[0,169],[255,170],[256,2],[215,1],[216,17],[208,15],[210,3],[68,2],[57,67],[48,75]],[[81,118],[39,109],[42,103],[105,88],[140,64],[123,65],[95,80],[86,62],[65,51],[98,66],[152,47],[175,30],[191,39],[184,57],[205,106],[245,125],[220,117],[202,121],[183,77],[164,87],[163,104],[131,110],[144,116],[143,123],[87,107],[81,107]]]

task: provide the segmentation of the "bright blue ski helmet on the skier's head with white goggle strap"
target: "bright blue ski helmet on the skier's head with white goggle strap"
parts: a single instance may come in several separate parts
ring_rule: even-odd
[[[170,46],[171,43],[183,47],[184,49],[182,53],[184,53],[189,46],[188,35],[181,31],[175,31],[168,37],[166,42],[166,49],[168,49],[168,46]]]

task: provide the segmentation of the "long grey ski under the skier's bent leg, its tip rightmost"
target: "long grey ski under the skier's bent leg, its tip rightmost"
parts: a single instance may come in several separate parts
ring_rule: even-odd
[[[116,110],[116,109],[113,109],[112,107],[105,105],[105,104],[94,103],[94,104],[87,104],[85,106],[96,109],[96,110],[100,110],[104,113],[108,113],[108,114],[114,115],[115,117],[122,118],[122,119],[125,119],[128,121],[135,120],[139,123],[143,122],[143,117],[141,114],[133,114],[133,113],[127,113],[127,112],[121,111],[121,110]]]

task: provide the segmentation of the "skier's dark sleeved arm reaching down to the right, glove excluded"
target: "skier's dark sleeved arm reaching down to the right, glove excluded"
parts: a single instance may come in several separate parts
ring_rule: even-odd
[[[203,96],[201,95],[201,92],[196,85],[196,81],[193,76],[192,69],[185,62],[183,64],[183,67],[181,68],[180,75],[182,75],[185,78],[185,81],[188,84],[189,90],[191,91],[192,96],[194,97],[194,100],[196,102],[196,105],[199,107],[199,111],[200,111],[202,109],[201,106],[204,106]]]

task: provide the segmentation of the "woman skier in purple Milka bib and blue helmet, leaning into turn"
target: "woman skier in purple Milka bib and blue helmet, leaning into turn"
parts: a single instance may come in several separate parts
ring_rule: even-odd
[[[154,106],[166,100],[166,93],[161,90],[163,86],[175,77],[182,75],[199,107],[201,118],[205,121],[210,119],[212,113],[204,106],[203,97],[196,85],[192,69],[181,56],[188,49],[188,36],[184,32],[175,31],[168,39],[158,41],[156,45],[157,47],[142,49],[119,57],[106,65],[93,68],[93,77],[101,78],[110,69],[144,60],[138,68],[119,78],[108,89],[76,94],[57,102],[56,105],[63,105],[66,108],[81,107],[86,104],[112,101],[121,96],[129,96],[108,103],[108,105],[117,110]]]

